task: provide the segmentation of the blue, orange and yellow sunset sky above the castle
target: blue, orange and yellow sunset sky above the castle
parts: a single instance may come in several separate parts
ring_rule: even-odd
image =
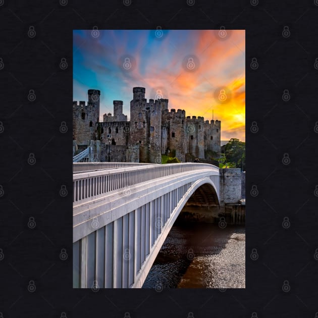
[[[113,100],[129,120],[136,86],[169,110],[221,120],[221,140],[245,141],[245,30],[73,31],[73,100],[99,89],[100,121]]]

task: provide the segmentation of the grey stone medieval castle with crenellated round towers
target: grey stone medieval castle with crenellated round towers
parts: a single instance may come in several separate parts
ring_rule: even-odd
[[[219,120],[186,117],[180,109],[169,112],[168,99],[147,102],[145,88],[134,87],[130,122],[123,114],[122,100],[114,100],[114,116],[104,114],[99,122],[99,97],[99,90],[89,89],[87,105],[73,101],[73,140],[82,148],[97,141],[97,161],[106,162],[110,156],[112,162],[161,163],[161,155],[168,154],[186,162],[191,157],[203,160],[206,150],[221,153]]]

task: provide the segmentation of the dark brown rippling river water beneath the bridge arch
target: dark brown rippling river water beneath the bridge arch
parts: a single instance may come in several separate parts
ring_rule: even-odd
[[[245,228],[174,225],[142,288],[245,288]]]

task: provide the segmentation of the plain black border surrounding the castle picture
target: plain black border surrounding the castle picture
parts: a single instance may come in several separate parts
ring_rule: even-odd
[[[315,317],[318,1],[192,4],[0,0],[0,317]],[[93,26],[246,30],[246,289],[73,290],[72,31]]]

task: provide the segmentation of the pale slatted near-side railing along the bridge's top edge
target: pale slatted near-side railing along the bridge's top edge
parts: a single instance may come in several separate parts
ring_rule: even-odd
[[[102,164],[99,165],[102,167]],[[137,166],[134,167],[108,169],[109,170],[97,170],[73,174],[73,204],[77,205],[84,203],[84,201],[92,200],[97,196],[104,195],[108,192],[125,189],[138,183],[178,173],[205,169],[219,175],[219,168],[216,166],[194,163],[166,165],[137,164]]]

